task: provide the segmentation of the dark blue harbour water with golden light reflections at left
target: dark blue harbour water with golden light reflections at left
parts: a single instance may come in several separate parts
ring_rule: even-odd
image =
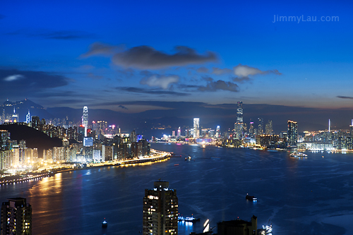
[[[23,196],[32,205],[33,234],[139,234],[145,188],[169,181],[179,213],[200,217],[179,224],[179,234],[217,222],[258,217],[273,234],[353,234],[353,155],[152,144],[183,157],[135,167],[72,171],[0,187],[1,202]],[[191,161],[184,157],[191,155]],[[324,157],[322,157],[324,156]],[[179,164],[174,166],[174,164]],[[246,193],[257,203],[247,202]],[[101,222],[107,219],[107,229]]]

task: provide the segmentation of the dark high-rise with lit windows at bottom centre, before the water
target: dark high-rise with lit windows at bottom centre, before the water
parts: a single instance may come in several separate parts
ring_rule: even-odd
[[[162,234],[178,234],[178,198],[167,181],[156,181],[153,189],[145,189],[143,235]]]

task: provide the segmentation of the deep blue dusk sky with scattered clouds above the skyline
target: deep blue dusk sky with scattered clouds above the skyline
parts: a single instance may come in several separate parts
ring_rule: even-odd
[[[1,1],[1,102],[165,113],[242,101],[325,109],[323,120],[348,110],[348,126],[352,10],[352,1]]]

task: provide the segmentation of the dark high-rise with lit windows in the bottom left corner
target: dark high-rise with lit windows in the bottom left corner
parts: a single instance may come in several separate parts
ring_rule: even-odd
[[[25,198],[8,198],[2,203],[0,234],[32,234],[32,207]]]

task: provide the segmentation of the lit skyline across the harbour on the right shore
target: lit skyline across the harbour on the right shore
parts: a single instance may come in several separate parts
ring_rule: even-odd
[[[172,131],[172,135],[164,135],[163,140],[182,141],[187,143],[213,144],[225,147],[261,147],[282,150],[353,150],[353,120],[349,130],[330,130],[330,121],[326,131],[305,131],[304,135],[298,133],[298,123],[287,121],[287,131],[279,134],[273,132],[273,121],[264,122],[258,117],[257,123],[250,119],[244,122],[243,103],[237,103],[237,119],[234,128],[220,131],[202,128],[200,119],[193,119],[193,128]],[[182,135],[181,133],[185,133]]]

